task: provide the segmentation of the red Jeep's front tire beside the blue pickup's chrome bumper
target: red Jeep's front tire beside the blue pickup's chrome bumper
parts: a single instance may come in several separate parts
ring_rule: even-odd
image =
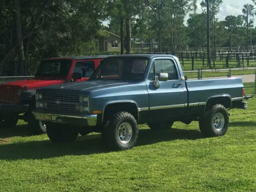
[[[46,133],[46,126],[44,127],[42,121],[36,120],[32,113],[30,113],[28,117],[28,128],[34,135]]]

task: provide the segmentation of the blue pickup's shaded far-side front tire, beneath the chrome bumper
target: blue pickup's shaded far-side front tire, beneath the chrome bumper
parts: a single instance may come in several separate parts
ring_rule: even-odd
[[[78,130],[71,125],[47,123],[46,133],[54,143],[72,142],[78,137]]]

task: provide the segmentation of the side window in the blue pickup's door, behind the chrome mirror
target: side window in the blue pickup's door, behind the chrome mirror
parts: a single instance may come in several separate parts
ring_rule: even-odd
[[[177,80],[178,79],[177,69],[176,69],[176,66],[175,66],[175,64],[172,60],[157,59],[157,60],[154,60],[154,66],[155,66],[156,74],[158,74],[158,73],[168,73],[168,80]],[[153,64],[152,64],[148,79],[152,80],[153,76],[154,76],[154,67],[153,67]]]

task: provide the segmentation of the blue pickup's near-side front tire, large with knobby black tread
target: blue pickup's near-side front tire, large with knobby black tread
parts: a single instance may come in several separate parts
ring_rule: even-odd
[[[119,132],[124,124],[128,127],[127,130],[132,130],[132,134],[124,134],[124,138],[125,135],[128,135],[127,143],[121,141],[121,132]],[[133,148],[138,139],[138,124],[136,119],[128,112],[118,112],[114,114],[104,125],[102,139],[104,145],[110,150],[128,150]]]

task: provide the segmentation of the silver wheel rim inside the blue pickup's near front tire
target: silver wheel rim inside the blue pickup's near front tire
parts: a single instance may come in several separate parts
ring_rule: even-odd
[[[122,144],[127,144],[132,139],[132,126],[124,122],[118,128],[118,138]]]

